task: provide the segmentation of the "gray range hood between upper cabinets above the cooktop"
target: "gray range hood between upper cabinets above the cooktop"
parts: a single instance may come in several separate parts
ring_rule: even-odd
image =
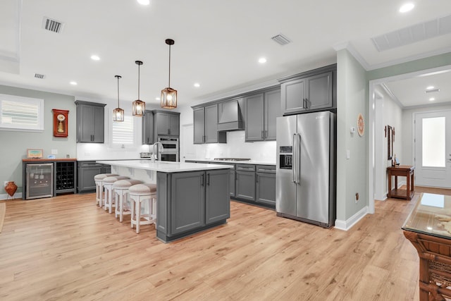
[[[238,99],[218,104],[218,130],[233,131],[244,130],[242,113]]]

